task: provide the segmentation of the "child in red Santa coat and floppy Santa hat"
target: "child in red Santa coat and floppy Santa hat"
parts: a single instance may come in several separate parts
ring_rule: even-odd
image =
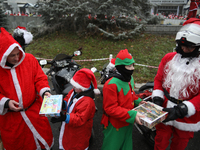
[[[63,101],[59,118],[53,117],[52,123],[61,122],[59,148],[64,150],[87,150],[92,133],[93,117],[96,111],[94,97],[100,94],[93,72],[80,69],[70,80],[73,89]],[[92,84],[93,83],[93,84]]]

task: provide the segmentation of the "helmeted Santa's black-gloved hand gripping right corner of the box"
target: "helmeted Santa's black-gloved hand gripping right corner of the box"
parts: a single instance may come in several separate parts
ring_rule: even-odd
[[[188,113],[188,108],[184,103],[180,103],[173,108],[164,108],[163,111],[168,112],[167,118],[163,122],[184,118]]]

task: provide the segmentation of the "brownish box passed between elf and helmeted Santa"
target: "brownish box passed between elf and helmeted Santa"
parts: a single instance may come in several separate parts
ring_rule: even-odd
[[[162,122],[167,117],[168,112],[164,112],[162,109],[163,107],[151,102],[147,102],[146,104],[142,104],[134,108],[134,110],[146,116],[145,118],[141,118],[141,122],[149,129],[153,128],[155,125]]]

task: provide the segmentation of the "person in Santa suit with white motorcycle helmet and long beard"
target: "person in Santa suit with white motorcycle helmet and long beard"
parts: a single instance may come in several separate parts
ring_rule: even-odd
[[[184,150],[200,130],[200,19],[184,22],[176,52],[166,54],[154,79],[153,102],[168,112],[156,126],[155,150]]]

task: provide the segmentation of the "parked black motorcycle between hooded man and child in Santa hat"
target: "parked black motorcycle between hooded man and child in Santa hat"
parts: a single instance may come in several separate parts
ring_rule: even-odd
[[[73,55],[58,54],[52,61],[40,60],[40,65],[44,67],[50,64],[49,70],[46,75],[51,77],[53,84],[53,91],[56,94],[63,94],[66,96],[68,92],[73,88],[70,84],[70,79],[79,70],[80,66],[72,58],[74,56],[80,56],[82,48],[74,51]]]

